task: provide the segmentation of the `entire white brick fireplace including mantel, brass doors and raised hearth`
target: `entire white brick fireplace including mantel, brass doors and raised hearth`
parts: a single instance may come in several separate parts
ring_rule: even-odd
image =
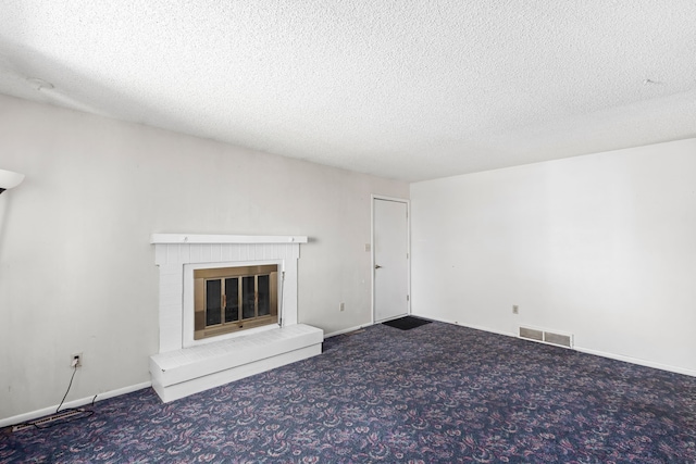
[[[323,330],[298,324],[307,237],[153,234],[150,242],[160,274],[150,374],[162,401],[321,354]]]

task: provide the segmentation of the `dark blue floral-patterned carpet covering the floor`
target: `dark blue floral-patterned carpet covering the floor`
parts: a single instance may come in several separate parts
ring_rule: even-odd
[[[696,378],[442,323],[169,404],[0,436],[0,462],[696,463]]]

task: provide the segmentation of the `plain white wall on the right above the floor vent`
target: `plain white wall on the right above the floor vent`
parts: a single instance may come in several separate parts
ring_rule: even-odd
[[[696,375],[696,139],[417,183],[411,208],[413,313]]]

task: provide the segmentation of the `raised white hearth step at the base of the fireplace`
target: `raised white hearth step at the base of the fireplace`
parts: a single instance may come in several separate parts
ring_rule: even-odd
[[[152,388],[178,400],[322,352],[324,331],[306,324],[278,327],[150,356]]]

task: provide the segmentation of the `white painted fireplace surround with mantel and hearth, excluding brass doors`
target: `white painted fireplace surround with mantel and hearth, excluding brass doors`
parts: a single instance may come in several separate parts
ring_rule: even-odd
[[[150,242],[160,268],[160,347],[150,375],[162,401],[321,354],[323,331],[298,324],[297,260],[307,237],[152,234]],[[279,325],[194,340],[194,269],[257,264],[284,273]]]

